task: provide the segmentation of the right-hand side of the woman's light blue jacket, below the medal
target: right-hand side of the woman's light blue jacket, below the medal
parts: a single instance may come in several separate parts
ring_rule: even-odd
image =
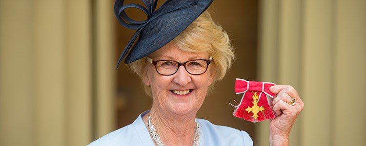
[[[214,125],[204,119],[196,119],[202,131],[204,146],[253,146],[245,131],[226,126]]]

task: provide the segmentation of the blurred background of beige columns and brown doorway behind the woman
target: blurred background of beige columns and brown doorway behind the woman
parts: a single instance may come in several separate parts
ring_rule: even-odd
[[[113,2],[0,0],[0,146],[85,146],[150,109],[137,75],[115,70],[135,30]],[[305,102],[291,146],[366,145],[365,0],[214,0],[208,11],[237,58],[198,118],[268,146],[268,121],[232,116],[235,78],[288,84]]]

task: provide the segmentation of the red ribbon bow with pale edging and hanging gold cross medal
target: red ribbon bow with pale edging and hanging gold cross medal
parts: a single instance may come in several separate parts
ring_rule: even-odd
[[[274,118],[275,114],[270,105],[272,105],[275,94],[269,91],[269,87],[274,85],[269,82],[246,81],[237,78],[234,86],[235,93],[244,94],[240,104],[234,106],[233,115],[254,123]]]

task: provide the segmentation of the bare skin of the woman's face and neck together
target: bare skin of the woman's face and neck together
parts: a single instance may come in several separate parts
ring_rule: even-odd
[[[208,53],[184,52],[168,43],[152,55],[152,59],[170,59],[185,62],[191,59],[208,58]],[[181,66],[173,75],[161,75],[151,63],[146,66],[144,84],[150,86],[153,106],[150,110],[152,124],[166,146],[187,146],[194,141],[195,117],[201,108],[208,86],[214,78],[211,66],[206,73],[192,75]],[[176,95],[170,90],[192,90],[186,95]],[[147,126],[147,116],[142,119]],[[169,133],[169,134],[167,134]]]

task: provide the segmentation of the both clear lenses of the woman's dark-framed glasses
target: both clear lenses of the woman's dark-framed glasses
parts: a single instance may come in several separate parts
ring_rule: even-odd
[[[175,61],[158,61],[156,70],[163,75],[174,74],[178,70],[178,62]],[[190,74],[202,74],[207,69],[207,62],[204,60],[192,60],[185,63],[185,70]]]

